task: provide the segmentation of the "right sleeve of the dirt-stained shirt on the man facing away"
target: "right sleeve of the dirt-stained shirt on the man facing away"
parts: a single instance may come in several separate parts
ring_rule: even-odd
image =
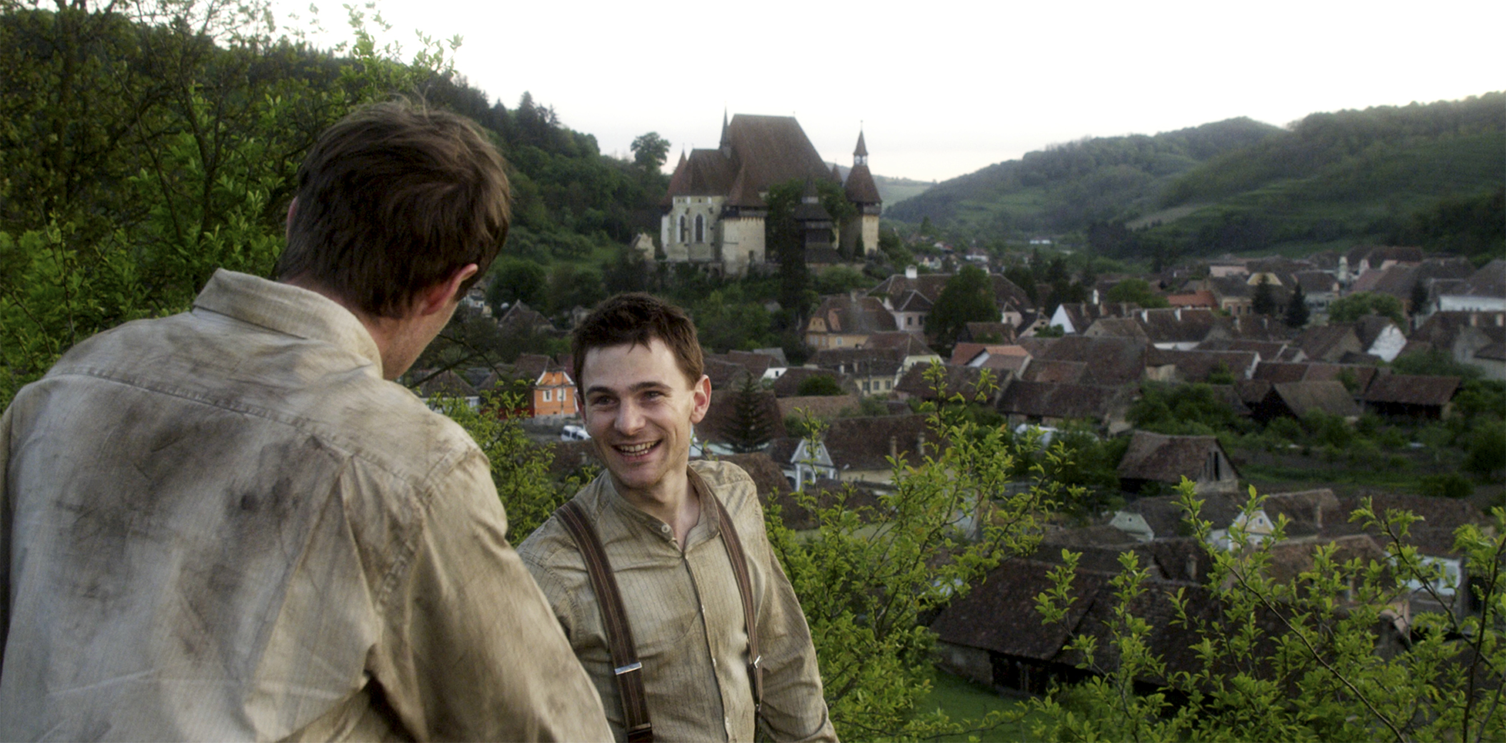
[[[506,540],[480,452],[432,494],[373,672],[420,740],[610,740],[601,698]]]

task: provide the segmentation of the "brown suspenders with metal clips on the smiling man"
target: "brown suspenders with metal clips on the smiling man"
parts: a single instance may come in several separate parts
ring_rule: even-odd
[[[753,582],[748,579],[748,564],[742,553],[742,540],[732,524],[721,500],[702,482],[700,475],[690,470],[690,479],[700,502],[712,502],[717,506],[717,518],[721,521],[721,543],[727,549],[727,559],[732,562],[732,574],[738,583],[738,595],[742,598],[742,621],[747,622],[748,633],[748,678],[753,683],[753,708],[764,707],[764,668],[762,656],[758,651],[758,616],[753,610]],[[611,651],[611,666],[617,675],[617,693],[622,695],[623,726],[631,743],[646,743],[654,740],[654,725],[649,722],[648,696],[643,693],[643,663],[639,662],[639,650],[633,642],[633,627],[628,625],[628,613],[622,606],[622,592],[617,591],[617,579],[611,573],[611,564],[601,547],[601,537],[586,518],[586,511],[575,500],[562,505],[554,515],[565,524],[571,540],[580,549],[586,561],[586,574],[590,577],[590,588],[601,604],[601,619],[607,627],[607,645]]]

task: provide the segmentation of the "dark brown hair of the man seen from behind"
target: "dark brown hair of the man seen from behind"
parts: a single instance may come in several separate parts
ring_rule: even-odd
[[[401,316],[508,237],[501,155],[470,121],[407,101],[363,107],[298,167],[298,208],[277,277],[310,279],[375,316]]]

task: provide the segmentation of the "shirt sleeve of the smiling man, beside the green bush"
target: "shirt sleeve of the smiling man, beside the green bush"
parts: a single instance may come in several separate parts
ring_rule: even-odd
[[[759,653],[764,656],[764,710],[759,719],[773,740],[836,741],[810,627],[789,577],[768,544],[758,496],[748,497],[756,515],[747,526],[756,535],[756,540],[748,540],[750,558],[764,561],[770,576],[758,615]]]

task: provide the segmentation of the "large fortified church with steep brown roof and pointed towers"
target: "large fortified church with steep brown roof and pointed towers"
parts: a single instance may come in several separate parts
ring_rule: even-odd
[[[864,252],[878,247],[878,214],[883,200],[867,170],[867,146],[857,136],[852,169],[842,181],[836,167],[810,145],[794,116],[750,116],[739,113],[729,122],[721,116],[721,146],[679,155],[661,206],[660,244],[669,262],[690,262],[727,276],[742,276],[765,261],[764,219],[768,216],[768,188],[804,179],[806,196],[795,219],[806,235],[807,255],[834,255],[836,244],[852,255],[861,237]],[[816,181],[842,184],[857,216],[833,225],[815,194]],[[819,261],[825,262],[825,261]]]

